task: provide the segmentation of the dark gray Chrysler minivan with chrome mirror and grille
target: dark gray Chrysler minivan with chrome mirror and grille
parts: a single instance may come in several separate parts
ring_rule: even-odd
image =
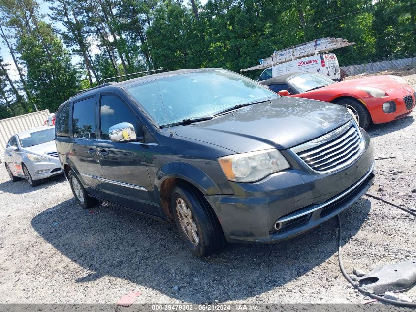
[[[56,145],[81,207],[174,220],[196,256],[304,233],[374,179],[370,138],[346,108],[218,68],[82,92],[58,110]]]

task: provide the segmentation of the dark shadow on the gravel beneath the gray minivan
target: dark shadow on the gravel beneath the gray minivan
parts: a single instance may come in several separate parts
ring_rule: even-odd
[[[360,199],[341,214],[344,242],[359,231],[370,208],[369,200]],[[190,303],[246,299],[270,291],[302,276],[338,249],[335,218],[285,242],[226,244],[222,252],[204,259],[188,252],[173,224],[108,204],[83,210],[70,199],[38,214],[31,224],[84,268],[77,276],[68,276],[75,282],[108,275]],[[45,254],[42,257],[47,261]],[[173,286],[179,291],[172,292]],[[142,292],[146,295],[146,289]]]

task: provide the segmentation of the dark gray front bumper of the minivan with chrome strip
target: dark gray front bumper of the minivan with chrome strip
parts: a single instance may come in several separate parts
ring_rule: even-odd
[[[235,195],[206,195],[228,242],[264,244],[304,233],[357,201],[374,180],[374,152],[363,131],[361,156],[338,172],[313,173],[302,166],[256,183],[230,182]],[[288,151],[285,151],[288,153]],[[290,159],[290,155],[285,155]],[[279,222],[280,229],[274,225]]]

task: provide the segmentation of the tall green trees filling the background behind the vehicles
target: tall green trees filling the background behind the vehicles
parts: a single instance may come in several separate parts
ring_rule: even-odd
[[[326,36],[356,43],[335,51],[341,64],[415,54],[415,1],[48,0],[49,25],[36,0],[0,0],[9,50],[24,67],[14,81],[0,60],[0,118],[35,104],[55,111],[77,90],[152,66],[239,72],[274,50]]]

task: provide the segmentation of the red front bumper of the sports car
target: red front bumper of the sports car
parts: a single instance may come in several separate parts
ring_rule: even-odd
[[[404,88],[392,92],[389,96],[386,96],[384,98],[365,97],[360,99],[360,101],[363,102],[367,107],[373,123],[381,124],[393,121],[395,119],[400,119],[409,115],[415,107],[416,99],[414,92],[415,90],[413,90],[413,88],[406,86]],[[403,98],[409,95],[413,98],[413,106],[410,109],[407,109]],[[383,103],[388,101],[394,101],[394,103],[396,104],[396,110],[394,112],[385,113],[383,111]]]

